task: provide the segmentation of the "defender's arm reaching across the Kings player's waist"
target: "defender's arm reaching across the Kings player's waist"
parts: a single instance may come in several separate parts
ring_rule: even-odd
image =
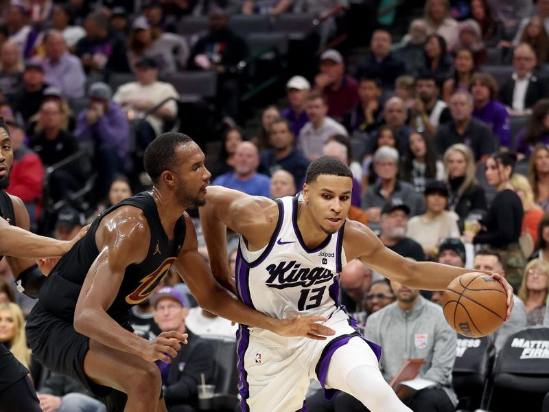
[[[174,266],[200,307],[231,321],[270,330],[282,336],[325,339],[325,336],[334,334],[330,328],[317,323],[327,320],[325,317],[273,319],[231,297],[227,290],[215,281],[206,262],[198,253],[194,227],[188,216],[186,219],[185,244]]]

